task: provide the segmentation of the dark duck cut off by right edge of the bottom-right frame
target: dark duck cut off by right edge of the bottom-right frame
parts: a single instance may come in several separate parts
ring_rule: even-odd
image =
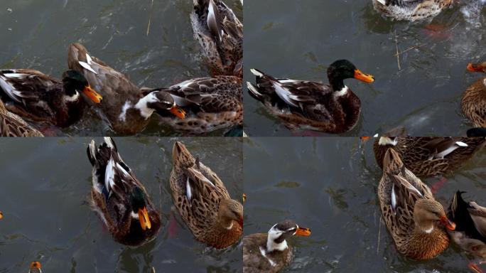
[[[450,237],[463,250],[486,258],[486,208],[465,202],[463,191],[457,191],[450,203],[448,217],[456,224]]]

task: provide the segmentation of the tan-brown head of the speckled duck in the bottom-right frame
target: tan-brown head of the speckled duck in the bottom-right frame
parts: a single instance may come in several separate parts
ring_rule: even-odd
[[[426,233],[431,233],[436,228],[436,223],[448,230],[455,230],[455,223],[447,218],[441,203],[433,199],[417,200],[414,206],[414,221],[416,227]]]

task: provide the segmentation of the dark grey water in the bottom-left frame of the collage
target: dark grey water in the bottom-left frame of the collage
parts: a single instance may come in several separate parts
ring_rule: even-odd
[[[233,198],[242,195],[239,139],[117,138],[119,153],[144,183],[156,208],[161,208],[163,221],[156,240],[126,247],[112,240],[86,203],[92,171],[86,146],[91,139],[2,139],[0,272],[27,272],[34,260],[49,273],[148,273],[151,267],[157,273],[241,271],[241,246],[222,251],[205,247],[193,239],[177,213],[176,233],[168,233],[172,206],[168,179],[176,140],[218,173]]]

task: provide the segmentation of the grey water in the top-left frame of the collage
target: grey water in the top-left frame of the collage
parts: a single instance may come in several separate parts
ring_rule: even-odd
[[[68,45],[92,55],[142,87],[166,87],[207,77],[193,39],[188,0],[3,0],[0,7],[0,69],[32,68],[60,78],[68,69]],[[238,16],[238,0],[227,1]],[[147,35],[148,21],[150,28]],[[156,115],[143,135],[177,135]],[[224,130],[223,130],[224,131]],[[113,134],[95,114],[58,134]],[[221,136],[223,132],[210,135]]]

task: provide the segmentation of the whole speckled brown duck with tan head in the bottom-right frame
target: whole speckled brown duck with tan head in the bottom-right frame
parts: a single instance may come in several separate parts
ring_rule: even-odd
[[[398,152],[389,148],[383,166],[378,198],[396,250],[416,260],[436,257],[447,249],[446,229],[454,230],[455,223],[430,188],[404,166]]]

